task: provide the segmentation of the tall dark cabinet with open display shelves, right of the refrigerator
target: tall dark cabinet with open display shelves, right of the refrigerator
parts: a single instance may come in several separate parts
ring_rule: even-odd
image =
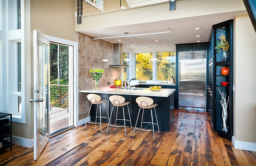
[[[215,49],[215,47],[222,42],[221,40],[226,40],[229,45],[227,50],[227,60],[224,60],[223,58],[222,49]],[[213,69],[213,73],[210,75],[211,72],[208,70],[209,83],[207,86],[209,87],[207,88],[212,91],[213,100],[211,96],[207,98],[208,110],[212,111],[209,112],[209,114],[213,129],[218,132],[219,136],[231,140],[233,136],[233,20],[228,20],[212,26],[210,44],[212,46],[213,54],[212,62],[209,58],[210,63],[208,64],[208,69]],[[229,74],[221,74],[221,68],[228,68]],[[213,84],[210,82],[211,77],[213,79]],[[227,82],[228,85],[223,86],[221,84],[222,82]],[[221,105],[222,97],[218,89],[221,93],[226,95],[226,100],[228,100],[226,120]],[[224,129],[225,126],[226,130]]]

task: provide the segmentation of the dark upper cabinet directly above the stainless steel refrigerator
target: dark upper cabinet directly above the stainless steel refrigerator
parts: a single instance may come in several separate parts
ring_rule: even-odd
[[[207,50],[206,43],[177,44],[176,52],[204,51]],[[176,46],[177,46],[176,45]]]

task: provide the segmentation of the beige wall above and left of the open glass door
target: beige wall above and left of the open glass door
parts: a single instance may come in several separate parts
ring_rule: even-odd
[[[76,0],[25,0],[26,123],[13,123],[13,135],[33,139],[33,30],[65,40],[78,41],[75,32]],[[30,93],[29,93],[30,92]]]

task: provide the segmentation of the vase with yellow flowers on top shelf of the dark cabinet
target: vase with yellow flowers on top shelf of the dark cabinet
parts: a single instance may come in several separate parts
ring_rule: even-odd
[[[215,49],[218,53],[222,51],[222,61],[228,61],[228,50],[229,50],[229,43],[227,41],[227,36],[225,36],[224,28],[220,30],[221,35],[217,37],[217,46],[215,46]],[[223,33],[221,32],[223,31]]]

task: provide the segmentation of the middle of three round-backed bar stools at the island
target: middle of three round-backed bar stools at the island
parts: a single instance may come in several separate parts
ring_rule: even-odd
[[[128,114],[129,114],[129,118],[130,120],[127,120],[127,121],[130,121],[131,123],[131,116],[130,116],[130,111],[129,111],[129,107],[128,107],[128,104],[130,103],[129,101],[125,101],[125,97],[122,97],[122,96],[119,96],[119,95],[112,95],[109,97],[109,100],[111,101],[111,103],[113,104],[113,107],[112,107],[112,110],[111,110],[111,114],[110,114],[110,119],[111,119],[111,116],[112,116],[112,113],[113,113],[113,108],[114,106],[116,106],[116,120],[123,120],[124,121],[124,126],[116,126],[116,122],[115,122],[115,125],[111,125],[110,124],[110,121],[108,123],[108,126],[113,126],[113,127],[125,127],[125,109],[124,109],[124,106],[127,105],[127,108],[128,108]],[[118,107],[121,107],[123,108],[123,116],[124,118],[123,119],[117,119],[117,113],[118,113]],[[132,126],[131,126],[131,129],[132,129]],[[107,128],[107,132],[108,133],[108,128]],[[126,137],[126,130],[125,130],[125,137]]]

